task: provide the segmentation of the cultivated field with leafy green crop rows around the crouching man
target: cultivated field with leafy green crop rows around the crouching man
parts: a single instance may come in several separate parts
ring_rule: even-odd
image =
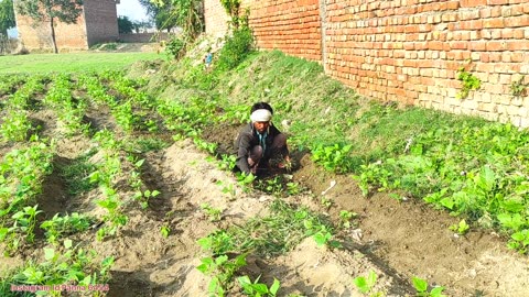
[[[231,142],[248,103],[193,89],[165,67],[138,65],[136,78],[76,68],[0,77],[1,296],[527,293],[527,256],[505,233],[450,230],[462,219],[374,190],[380,176],[353,179],[350,147],[309,151],[299,138],[310,130],[291,138],[292,172],[235,174]],[[264,66],[247,67],[258,88]],[[231,95],[245,91],[230,84]],[[284,118],[296,110],[276,106]],[[322,130],[336,112],[306,108]],[[428,164],[412,150],[398,162]],[[476,175],[484,187],[487,175]]]

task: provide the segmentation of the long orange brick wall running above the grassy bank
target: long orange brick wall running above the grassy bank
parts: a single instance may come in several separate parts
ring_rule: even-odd
[[[319,61],[366,97],[529,127],[529,91],[510,91],[529,84],[527,0],[242,2],[259,47]],[[482,80],[466,99],[460,67]]]

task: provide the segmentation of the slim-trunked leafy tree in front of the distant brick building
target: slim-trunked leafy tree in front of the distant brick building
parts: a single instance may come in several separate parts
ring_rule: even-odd
[[[83,11],[83,0],[17,0],[17,10],[22,15],[28,15],[35,23],[47,23],[50,25],[53,52],[58,53],[55,41],[55,24],[77,23]]]

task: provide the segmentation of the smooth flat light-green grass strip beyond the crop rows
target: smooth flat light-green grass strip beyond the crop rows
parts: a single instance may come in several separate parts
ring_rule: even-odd
[[[119,70],[137,61],[161,58],[156,53],[66,53],[0,56],[0,74],[43,74]]]

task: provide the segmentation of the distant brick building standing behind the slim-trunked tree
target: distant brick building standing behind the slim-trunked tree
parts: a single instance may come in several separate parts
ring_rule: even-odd
[[[15,13],[19,38],[30,51],[53,51],[50,24],[36,24],[32,19]],[[102,41],[118,38],[115,0],[85,0],[84,11],[75,24],[56,22],[55,41],[60,52],[88,50]]]

